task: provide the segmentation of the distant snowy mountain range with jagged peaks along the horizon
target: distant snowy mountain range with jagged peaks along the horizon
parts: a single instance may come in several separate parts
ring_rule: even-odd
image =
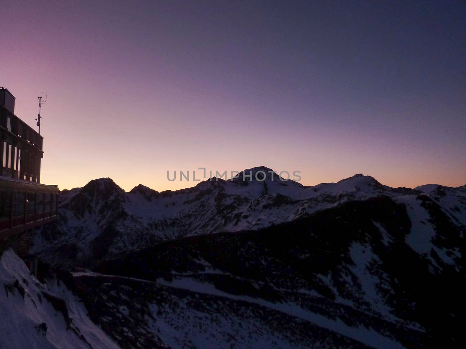
[[[267,179],[257,181],[257,171],[264,171]],[[90,181],[83,188],[62,191],[59,219],[35,235],[34,252],[52,264],[89,265],[167,239],[260,229],[347,201],[381,195],[416,197],[423,188],[433,188],[391,188],[361,174],[304,187],[292,180],[281,181],[268,171],[272,170],[247,169],[244,172],[252,174],[252,179],[243,181],[241,172],[233,181],[212,178],[192,188],[161,193],[141,184],[128,193],[110,178]],[[439,196],[449,214],[464,222],[464,214],[451,211],[464,206],[464,187],[443,190],[443,196],[428,195]]]

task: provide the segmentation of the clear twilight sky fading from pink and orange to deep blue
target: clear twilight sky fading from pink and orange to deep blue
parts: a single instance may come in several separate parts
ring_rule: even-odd
[[[40,5],[39,5],[40,4]],[[166,171],[466,184],[465,1],[4,1],[0,85],[41,182]]]

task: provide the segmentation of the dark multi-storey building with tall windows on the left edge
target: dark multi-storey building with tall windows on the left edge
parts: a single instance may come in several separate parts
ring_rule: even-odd
[[[43,137],[14,115],[14,103],[0,87],[0,251],[26,256],[31,229],[56,219],[59,189],[41,184]]]

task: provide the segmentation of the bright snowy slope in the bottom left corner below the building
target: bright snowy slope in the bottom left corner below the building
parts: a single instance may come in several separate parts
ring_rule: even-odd
[[[39,282],[11,248],[0,256],[0,282],[0,348],[119,348],[69,289]]]

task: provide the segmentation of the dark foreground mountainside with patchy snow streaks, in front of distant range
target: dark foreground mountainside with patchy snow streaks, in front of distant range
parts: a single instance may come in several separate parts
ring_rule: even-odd
[[[179,237],[66,283],[123,348],[462,348],[466,231],[439,199]]]

